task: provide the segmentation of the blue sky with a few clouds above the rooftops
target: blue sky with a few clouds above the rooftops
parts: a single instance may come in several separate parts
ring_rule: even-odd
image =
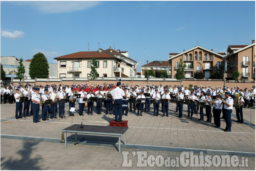
[[[53,58],[129,51],[140,67],[200,45],[226,52],[255,40],[254,1],[1,1],[1,56]],[[198,44],[197,44],[198,41]]]

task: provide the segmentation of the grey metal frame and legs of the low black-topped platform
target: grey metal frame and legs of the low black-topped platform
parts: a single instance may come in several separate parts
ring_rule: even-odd
[[[77,126],[80,126],[80,125],[77,125]],[[106,127],[108,127],[108,126],[106,126]],[[127,129],[128,129],[128,127],[127,127]],[[64,132],[65,148],[67,148],[67,132],[71,132],[71,133],[75,133],[75,141],[76,142],[77,142],[77,133],[79,133],[79,134],[96,134],[96,135],[119,136],[119,148],[118,148],[119,152],[121,152],[121,136],[123,134],[125,134],[125,142],[124,142],[124,144],[126,145],[126,131],[127,130],[125,130],[125,132],[123,132],[122,134],[117,134],[117,133],[106,133],[106,132],[66,130],[66,128],[62,130],[62,132]]]

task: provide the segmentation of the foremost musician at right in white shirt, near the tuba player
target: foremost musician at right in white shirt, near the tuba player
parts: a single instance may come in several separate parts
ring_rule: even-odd
[[[224,112],[225,112],[225,121],[226,121],[226,128],[224,129],[225,132],[231,132],[231,113],[233,109],[233,99],[230,97],[229,92],[225,92],[225,100],[222,101],[224,103]]]

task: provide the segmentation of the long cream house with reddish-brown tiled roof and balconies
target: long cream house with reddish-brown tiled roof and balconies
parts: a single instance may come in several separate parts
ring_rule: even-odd
[[[128,52],[124,52],[128,56]],[[91,71],[92,58],[98,62],[98,77],[135,77],[137,61],[114,50],[99,49],[92,52],[76,52],[56,57],[58,78],[87,78]]]

